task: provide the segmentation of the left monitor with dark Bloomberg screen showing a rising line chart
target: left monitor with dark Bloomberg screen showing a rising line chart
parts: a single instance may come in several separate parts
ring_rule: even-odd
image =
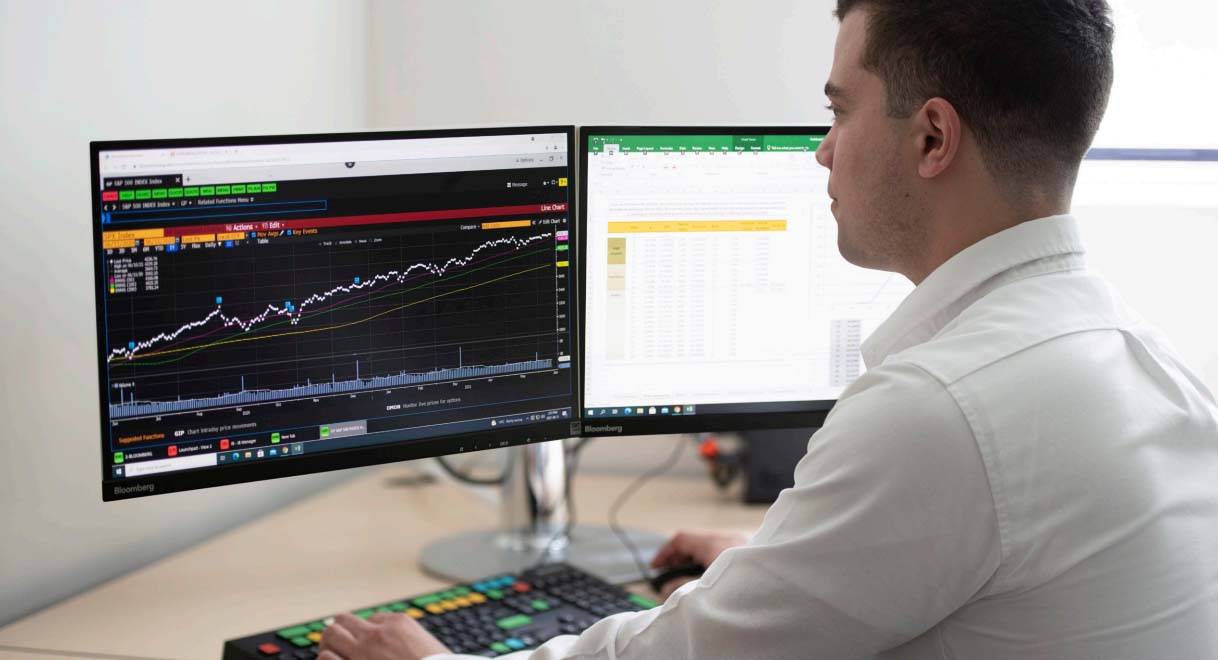
[[[104,499],[576,435],[572,147],[93,142]]]

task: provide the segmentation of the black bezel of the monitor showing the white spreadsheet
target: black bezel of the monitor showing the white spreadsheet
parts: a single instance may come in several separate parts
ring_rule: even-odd
[[[579,195],[579,240],[580,263],[587,263],[587,201],[588,201],[588,139],[593,136],[619,135],[828,135],[827,125],[683,125],[683,127],[631,127],[600,125],[581,127],[579,135],[580,155],[580,195]],[[586,300],[587,278],[580,290],[580,301]],[[579,345],[586,346],[587,306],[580,306]],[[580,393],[583,398],[587,360],[580,370]],[[674,401],[674,404],[683,402]],[[794,402],[804,404],[801,409],[781,412],[713,413],[693,415],[657,415],[657,416],[587,416],[581,408],[585,437],[644,436],[658,434],[697,434],[706,431],[749,431],[760,429],[803,429],[820,427],[825,424],[837,399]],[[603,423],[603,424],[599,424]],[[590,427],[596,430],[590,430]]]

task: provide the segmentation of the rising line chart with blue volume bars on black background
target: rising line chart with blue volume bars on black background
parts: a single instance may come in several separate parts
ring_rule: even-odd
[[[325,397],[560,374],[568,247],[554,229],[358,228],[140,257],[156,286],[106,298],[110,418],[303,412]]]

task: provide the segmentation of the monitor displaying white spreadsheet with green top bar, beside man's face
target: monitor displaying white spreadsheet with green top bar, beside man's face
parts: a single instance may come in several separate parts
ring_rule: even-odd
[[[912,290],[842,258],[827,133],[581,130],[585,436],[821,425]]]

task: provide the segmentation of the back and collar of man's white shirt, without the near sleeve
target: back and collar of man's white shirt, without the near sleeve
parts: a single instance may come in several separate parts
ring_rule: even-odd
[[[961,255],[966,263],[939,281],[989,279],[945,307],[927,301],[922,313],[951,320],[924,343],[899,349],[898,340],[881,367],[916,365],[955,399],[985,465],[1001,543],[985,587],[892,655],[1213,658],[1213,397],[1073,247],[984,270],[1047,245],[1034,234],[1074,240],[1072,220],[1029,224],[1061,226],[1017,226],[1009,233],[1029,240],[995,236],[1009,245]]]

